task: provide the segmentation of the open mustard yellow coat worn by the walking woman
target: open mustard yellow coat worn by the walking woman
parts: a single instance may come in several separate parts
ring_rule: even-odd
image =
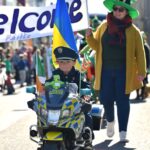
[[[106,20],[97,28],[96,32],[86,40],[89,46],[96,51],[95,82],[94,89],[101,89],[101,70],[102,70],[102,43],[103,33],[107,28]],[[142,82],[137,78],[138,75],[146,76],[146,60],[142,38],[139,29],[132,24],[126,29],[126,90],[129,94],[135,89],[141,88]]]

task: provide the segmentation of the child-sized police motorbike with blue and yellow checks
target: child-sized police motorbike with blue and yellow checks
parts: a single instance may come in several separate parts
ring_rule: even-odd
[[[27,89],[31,91],[35,94],[35,88]],[[37,124],[30,127],[30,139],[39,144],[38,150],[84,150],[92,133],[84,126],[84,113],[91,108],[83,103],[76,84],[59,80],[45,84],[45,93],[28,102],[37,114]]]

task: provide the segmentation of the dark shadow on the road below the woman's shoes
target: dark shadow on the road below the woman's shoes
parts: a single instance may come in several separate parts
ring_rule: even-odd
[[[94,150],[135,150],[136,148],[127,148],[126,143],[117,142],[111,146],[109,144],[112,140],[105,140],[94,146]]]

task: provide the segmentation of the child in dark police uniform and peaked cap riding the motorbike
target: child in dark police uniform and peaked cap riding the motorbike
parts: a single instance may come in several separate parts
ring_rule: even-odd
[[[74,67],[76,59],[78,59],[78,54],[74,50],[61,46],[54,50],[54,54],[59,67],[53,71],[53,75],[59,75],[60,80],[63,82],[76,83],[78,86],[78,91],[80,88],[80,82],[81,88],[89,88],[89,84],[87,82],[82,80],[80,81],[80,72]],[[52,78],[46,82],[50,82],[51,80]],[[93,130],[92,116],[90,113],[85,114],[85,120],[85,125]],[[92,143],[88,143],[86,147],[86,150],[90,149],[92,150]]]

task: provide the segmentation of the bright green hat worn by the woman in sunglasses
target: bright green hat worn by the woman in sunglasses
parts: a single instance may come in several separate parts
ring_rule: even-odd
[[[104,0],[103,4],[110,11],[113,11],[113,6],[122,6],[128,10],[129,16],[134,19],[139,16],[139,11],[131,6],[136,0]]]

